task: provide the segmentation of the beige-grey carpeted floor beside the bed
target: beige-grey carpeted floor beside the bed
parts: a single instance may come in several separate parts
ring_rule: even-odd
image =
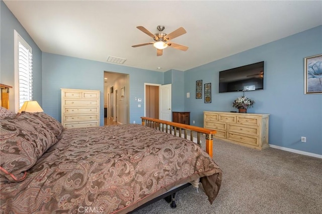
[[[199,193],[180,190],[175,209],[162,199],[134,213],[322,213],[322,159],[217,139],[213,147],[223,177],[212,205],[200,184]]]

